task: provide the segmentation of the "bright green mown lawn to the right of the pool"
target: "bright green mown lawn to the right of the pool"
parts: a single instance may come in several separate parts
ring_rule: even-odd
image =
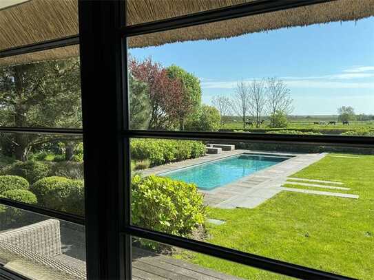
[[[282,191],[254,209],[210,208],[209,217],[227,222],[207,224],[211,235],[207,241],[358,279],[374,279],[374,156],[326,156],[293,177],[340,181],[351,188],[343,193],[360,198]],[[182,257],[245,279],[287,278],[205,255]]]

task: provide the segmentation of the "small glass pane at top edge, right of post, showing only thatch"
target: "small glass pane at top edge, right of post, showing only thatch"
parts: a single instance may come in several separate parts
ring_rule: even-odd
[[[126,25],[149,23],[251,1],[253,0],[129,0],[126,3]]]

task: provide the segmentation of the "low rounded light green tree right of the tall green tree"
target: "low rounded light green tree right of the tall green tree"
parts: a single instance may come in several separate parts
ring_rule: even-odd
[[[189,131],[218,131],[220,129],[220,112],[208,105],[201,105],[195,114],[186,122]]]

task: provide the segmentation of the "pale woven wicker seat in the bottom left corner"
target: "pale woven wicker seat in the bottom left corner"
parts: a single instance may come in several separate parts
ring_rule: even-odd
[[[30,279],[86,279],[85,262],[61,251],[57,219],[0,233],[0,263]]]

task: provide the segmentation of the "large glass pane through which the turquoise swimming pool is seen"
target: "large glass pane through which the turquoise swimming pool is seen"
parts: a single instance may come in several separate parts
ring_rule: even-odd
[[[373,278],[374,149],[132,139],[131,155],[134,225]]]

